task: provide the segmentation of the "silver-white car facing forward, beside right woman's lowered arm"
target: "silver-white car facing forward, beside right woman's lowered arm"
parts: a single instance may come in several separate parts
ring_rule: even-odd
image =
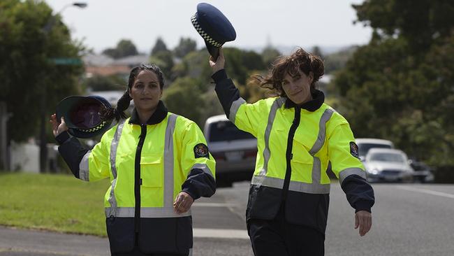
[[[367,180],[369,182],[411,182],[413,169],[407,154],[390,148],[371,148],[365,157]]]

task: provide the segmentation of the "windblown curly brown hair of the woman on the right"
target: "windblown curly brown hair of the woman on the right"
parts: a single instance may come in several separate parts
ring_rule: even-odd
[[[282,81],[287,73],[291,77],[296,77],[300,71],[305,73],[306,76],[309,76],[309,73],[312,72],[314,79],[311,83],[311,93],[314,93],[315,83],[323,76],[324,69],[323,61],[320,57],[298,48],[291,55],[278,57],[272,63],[267,76],[254,75],[251,76],[250,81],[263,88],[272,90],[281,97],[286,97],[282,89]]]

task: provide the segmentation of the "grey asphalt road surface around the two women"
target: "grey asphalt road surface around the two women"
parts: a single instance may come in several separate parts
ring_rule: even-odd
[[[244,225],[248,183],[220,188],[193,206],[193,255],[252,255]],[[353,229],[354,211],[333,184],[325,255],[454,255],[454,185],[374,184],[372,230]],[[0,256],[109,255],[94,236],[0,227]]]

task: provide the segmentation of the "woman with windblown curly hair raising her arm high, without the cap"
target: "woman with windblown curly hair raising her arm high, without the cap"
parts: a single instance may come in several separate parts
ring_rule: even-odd
[[[246,210],[254,255],[324,255],[329,164],[355,208],[355,228],[360,236],[369,232],[374,191],[349,123],[316,90],[320,57],[298,48],[277,58],[266,76],[251,77],[277,97],[254,104],[240,97],[224,62],[222,50],[210,57],[219,101],[233,124],[257,138]]]

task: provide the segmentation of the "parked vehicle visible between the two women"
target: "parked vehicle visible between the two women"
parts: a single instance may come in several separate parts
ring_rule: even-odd
[[[257,139],[235,127],[226,115],[208,118],[204,134],[208,148],[216,159],[218,185],[250,180],[256,164]]]

